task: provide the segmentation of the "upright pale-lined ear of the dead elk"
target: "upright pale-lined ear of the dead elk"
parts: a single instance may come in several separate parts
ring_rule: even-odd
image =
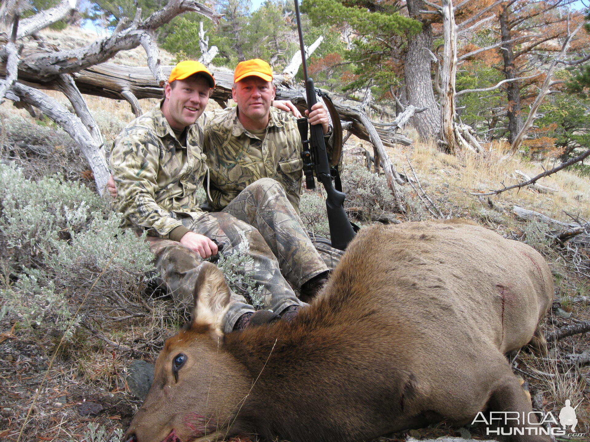
[[[220,337],[225,313],[230,308],[230,288],[221,270],[210,262],[199,266],[195,282],[192,326],[208,325]]]

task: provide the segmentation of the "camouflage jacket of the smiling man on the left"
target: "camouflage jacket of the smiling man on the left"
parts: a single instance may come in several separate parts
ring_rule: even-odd
[[[159,105],[127,124],[106,152],[124,227],[168,238],[179,219],[203,215],[195,192],[207,173],[202,141],[200,124],[192,124],[183,147]]]

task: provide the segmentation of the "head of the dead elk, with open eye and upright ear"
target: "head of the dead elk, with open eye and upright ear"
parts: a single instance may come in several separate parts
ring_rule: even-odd
[[[192,322],[166,340],[152,388],[124,441],[221,440],[247,397],[250,377],[221,349],[230,289],[217,266],[199,268]]]

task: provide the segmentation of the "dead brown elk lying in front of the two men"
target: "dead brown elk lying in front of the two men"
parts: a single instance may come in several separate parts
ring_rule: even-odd
[[[203,263],[197,286],[192,324],[166,341],[127,431],[138,442],[352,442],[471,423],[486,407],[532,411],[504,354],[543,347],[552,275],[529,246],[473,223],[360,230],[291,322],[223,335],[221,271]]]

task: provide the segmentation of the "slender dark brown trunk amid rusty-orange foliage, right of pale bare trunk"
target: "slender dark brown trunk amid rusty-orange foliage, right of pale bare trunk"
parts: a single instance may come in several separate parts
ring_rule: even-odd
[[[510,29],[510,6],[504,5],[501,9],[500,19],[500,34],[501,40],[504,43],[500,47],[500,53],[504,60],[504,68],[502,70],[506,80],[511,80],[519,75],[517,72],[516,62],[514,60],[514,43],[510,42],[512,39],[512,32]],[[513,143],[516,134],[522,130],[522,108],[520,105],[520,85],[517,81],[509,81],[506,85],[506,98],[508,100],[508,142]]]

